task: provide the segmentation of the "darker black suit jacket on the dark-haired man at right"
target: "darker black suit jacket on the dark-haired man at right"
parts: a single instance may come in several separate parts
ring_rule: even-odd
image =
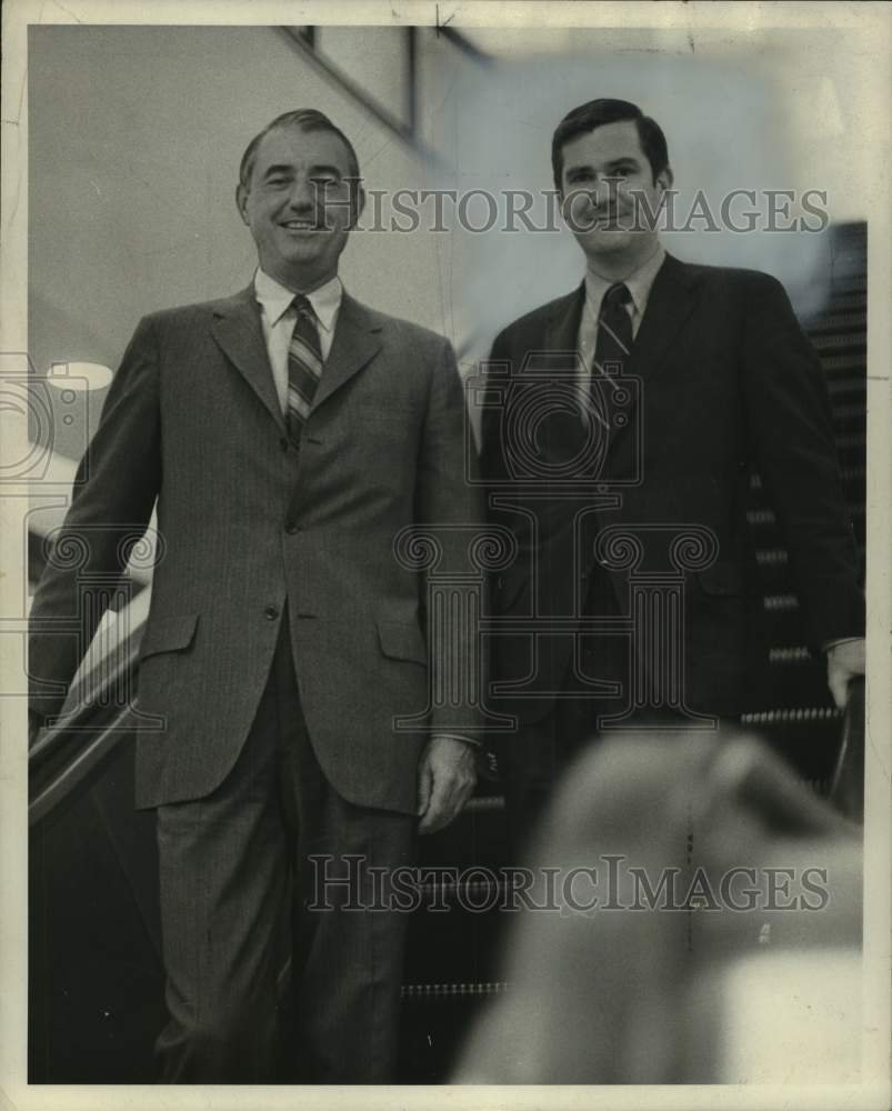
[[[553,366],[572,358],[583,298],[584,286],[510,324],[492,347],[490,381],[501,370],[500,382],[523,382],[533,352],[548,352]],[[541,496],[543,483],[517,479],[517,468],[512,474],[507,462],[508,438],[518,440],[517,430],[507,431],[512,424],[505,419],[507,392],[500,389],[501,403],[490,398],[483,412],[483,477],[490,497],[501,493],[504,500],[507,494],[520,507],[490,510],[493,522],[512,530],[519,551],[495,579],[494,611],[500,617],[538,613],[544,624],[573,613],[574,607],[578,612],[577,579],[591,580],[599,529],[704,527],[718,548],[711,564],[691,572],[685,583],[688,703],[711,713],[739,713],[751,699],[753,669],[766,655],[745,518],[751,469],[759,469],[776,506],[811,643],[863,632],[858,550],[820,363],[776,280],[667,257],[624,372],[641,378],[640,400],[634,403],[632,396],[625,426],[611,428],[598,463],[604,477],[600,492],[620,492],[620,503],[593,514],[591,494],[588,506],[585,496],[530,497],[537,489]],[[553,383],[543,380],[538,388],[547,393]],[[560,448],[565,429],[565,417],[551,432],[542,421],[538,431],[545,456]],[[635,458],[640,481],[617,484],[634,474]],[[624,610],[627,575],[612,573],[612,581]],[[535,662],[529,635],[495,635],[491,643],[497,682],[535,673],[540,690],[560,689],[570,667],[568,637],[541,639]],[[552,702],[508,698],[499,709],[537,720]]]

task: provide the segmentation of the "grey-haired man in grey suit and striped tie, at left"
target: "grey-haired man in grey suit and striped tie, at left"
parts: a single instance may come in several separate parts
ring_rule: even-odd
[[[454,661],[394,552],[428,522],[445,527],[443,560],[461,559],[450,529],[458,546],[475,520],[463,391],[444,339],[342,289],[363,200],[353,148],[321,113],[250,143],[237,201],[254,279],[141,321],[59,536],[84,558],[51,558],[34,598],[40,721],[101,617],[91,582],[121,573],[157,504],[139,712],[164,728],[138,737],[136,795],[157,810],[167,1081],[273,1079],[292,909],[299,1079],[391,1079],[405,915],[340,908],[380,908],[415,832],[473,788],[472,709],[444,718],[445,699],[423,721]],[[58,623],[74,613],[77,641]]]

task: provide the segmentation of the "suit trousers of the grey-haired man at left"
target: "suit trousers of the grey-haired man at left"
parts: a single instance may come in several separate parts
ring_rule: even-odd
[[[164,1082],[391,1081],[405,915],[381,909],[382,890],[412,863],[414,824],[353,805],[325,779],[285,613],[232,771],[211,794],[157,811]],[[282,1011],[293,1021],[280,1045]]]

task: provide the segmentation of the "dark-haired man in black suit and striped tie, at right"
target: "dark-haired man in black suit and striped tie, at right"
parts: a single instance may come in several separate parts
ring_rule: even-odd
[[[492,707],[518,723],[499,745],[515,839],[599,731],[750,705],[766,658],[751,469],[838,704],[864,670],[826,389],[782,287],[665,253],[665,138],[634,104],[571,111],[552,164],[585,279],[497,338],[482,423],[490,519],[517,551],[490,638]]]

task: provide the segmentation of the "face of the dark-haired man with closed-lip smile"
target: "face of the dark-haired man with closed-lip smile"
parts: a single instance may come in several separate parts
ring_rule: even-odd
[[[564,219],[592,269],[644,261],[657,240],[648,213],[658,212],[672,172],[667,168],[653,180],[634,121],[604,123],[572,139],[562,153]]]

